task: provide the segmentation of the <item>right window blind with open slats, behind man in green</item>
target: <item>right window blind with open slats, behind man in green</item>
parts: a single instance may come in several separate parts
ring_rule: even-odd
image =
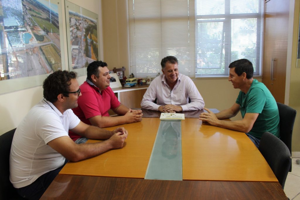
[[[264,2],[196,1],[196,77],[226,77],[229,64],[249,59],[261,75]]]

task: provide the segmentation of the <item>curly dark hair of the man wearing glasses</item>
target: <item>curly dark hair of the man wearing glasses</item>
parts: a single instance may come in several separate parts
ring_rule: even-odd
[[[67,70],[58,70],[50,74],[43,82],[44,98],[55,103],[59,94],[68,97],[69,94],[66,92],[70,92],[71,79],[76,78],[76,76],[76,72]]]

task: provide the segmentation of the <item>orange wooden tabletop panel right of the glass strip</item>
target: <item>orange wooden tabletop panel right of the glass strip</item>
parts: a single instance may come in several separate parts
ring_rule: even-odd
[[[274,181],[273,171],[246,134],[198,119],[182,123],[184,180]]]

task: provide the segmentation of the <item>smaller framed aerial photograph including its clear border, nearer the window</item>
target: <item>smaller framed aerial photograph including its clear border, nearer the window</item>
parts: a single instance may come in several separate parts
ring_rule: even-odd
[[[99,60],[98,14],[65,1],[69,70],[86,74],[89,63]]]

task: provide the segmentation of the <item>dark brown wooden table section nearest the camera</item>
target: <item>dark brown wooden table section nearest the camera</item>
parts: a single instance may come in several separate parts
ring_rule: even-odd
[[[274,182],[175,181],[58,174],[41,199],[287,199]]]

